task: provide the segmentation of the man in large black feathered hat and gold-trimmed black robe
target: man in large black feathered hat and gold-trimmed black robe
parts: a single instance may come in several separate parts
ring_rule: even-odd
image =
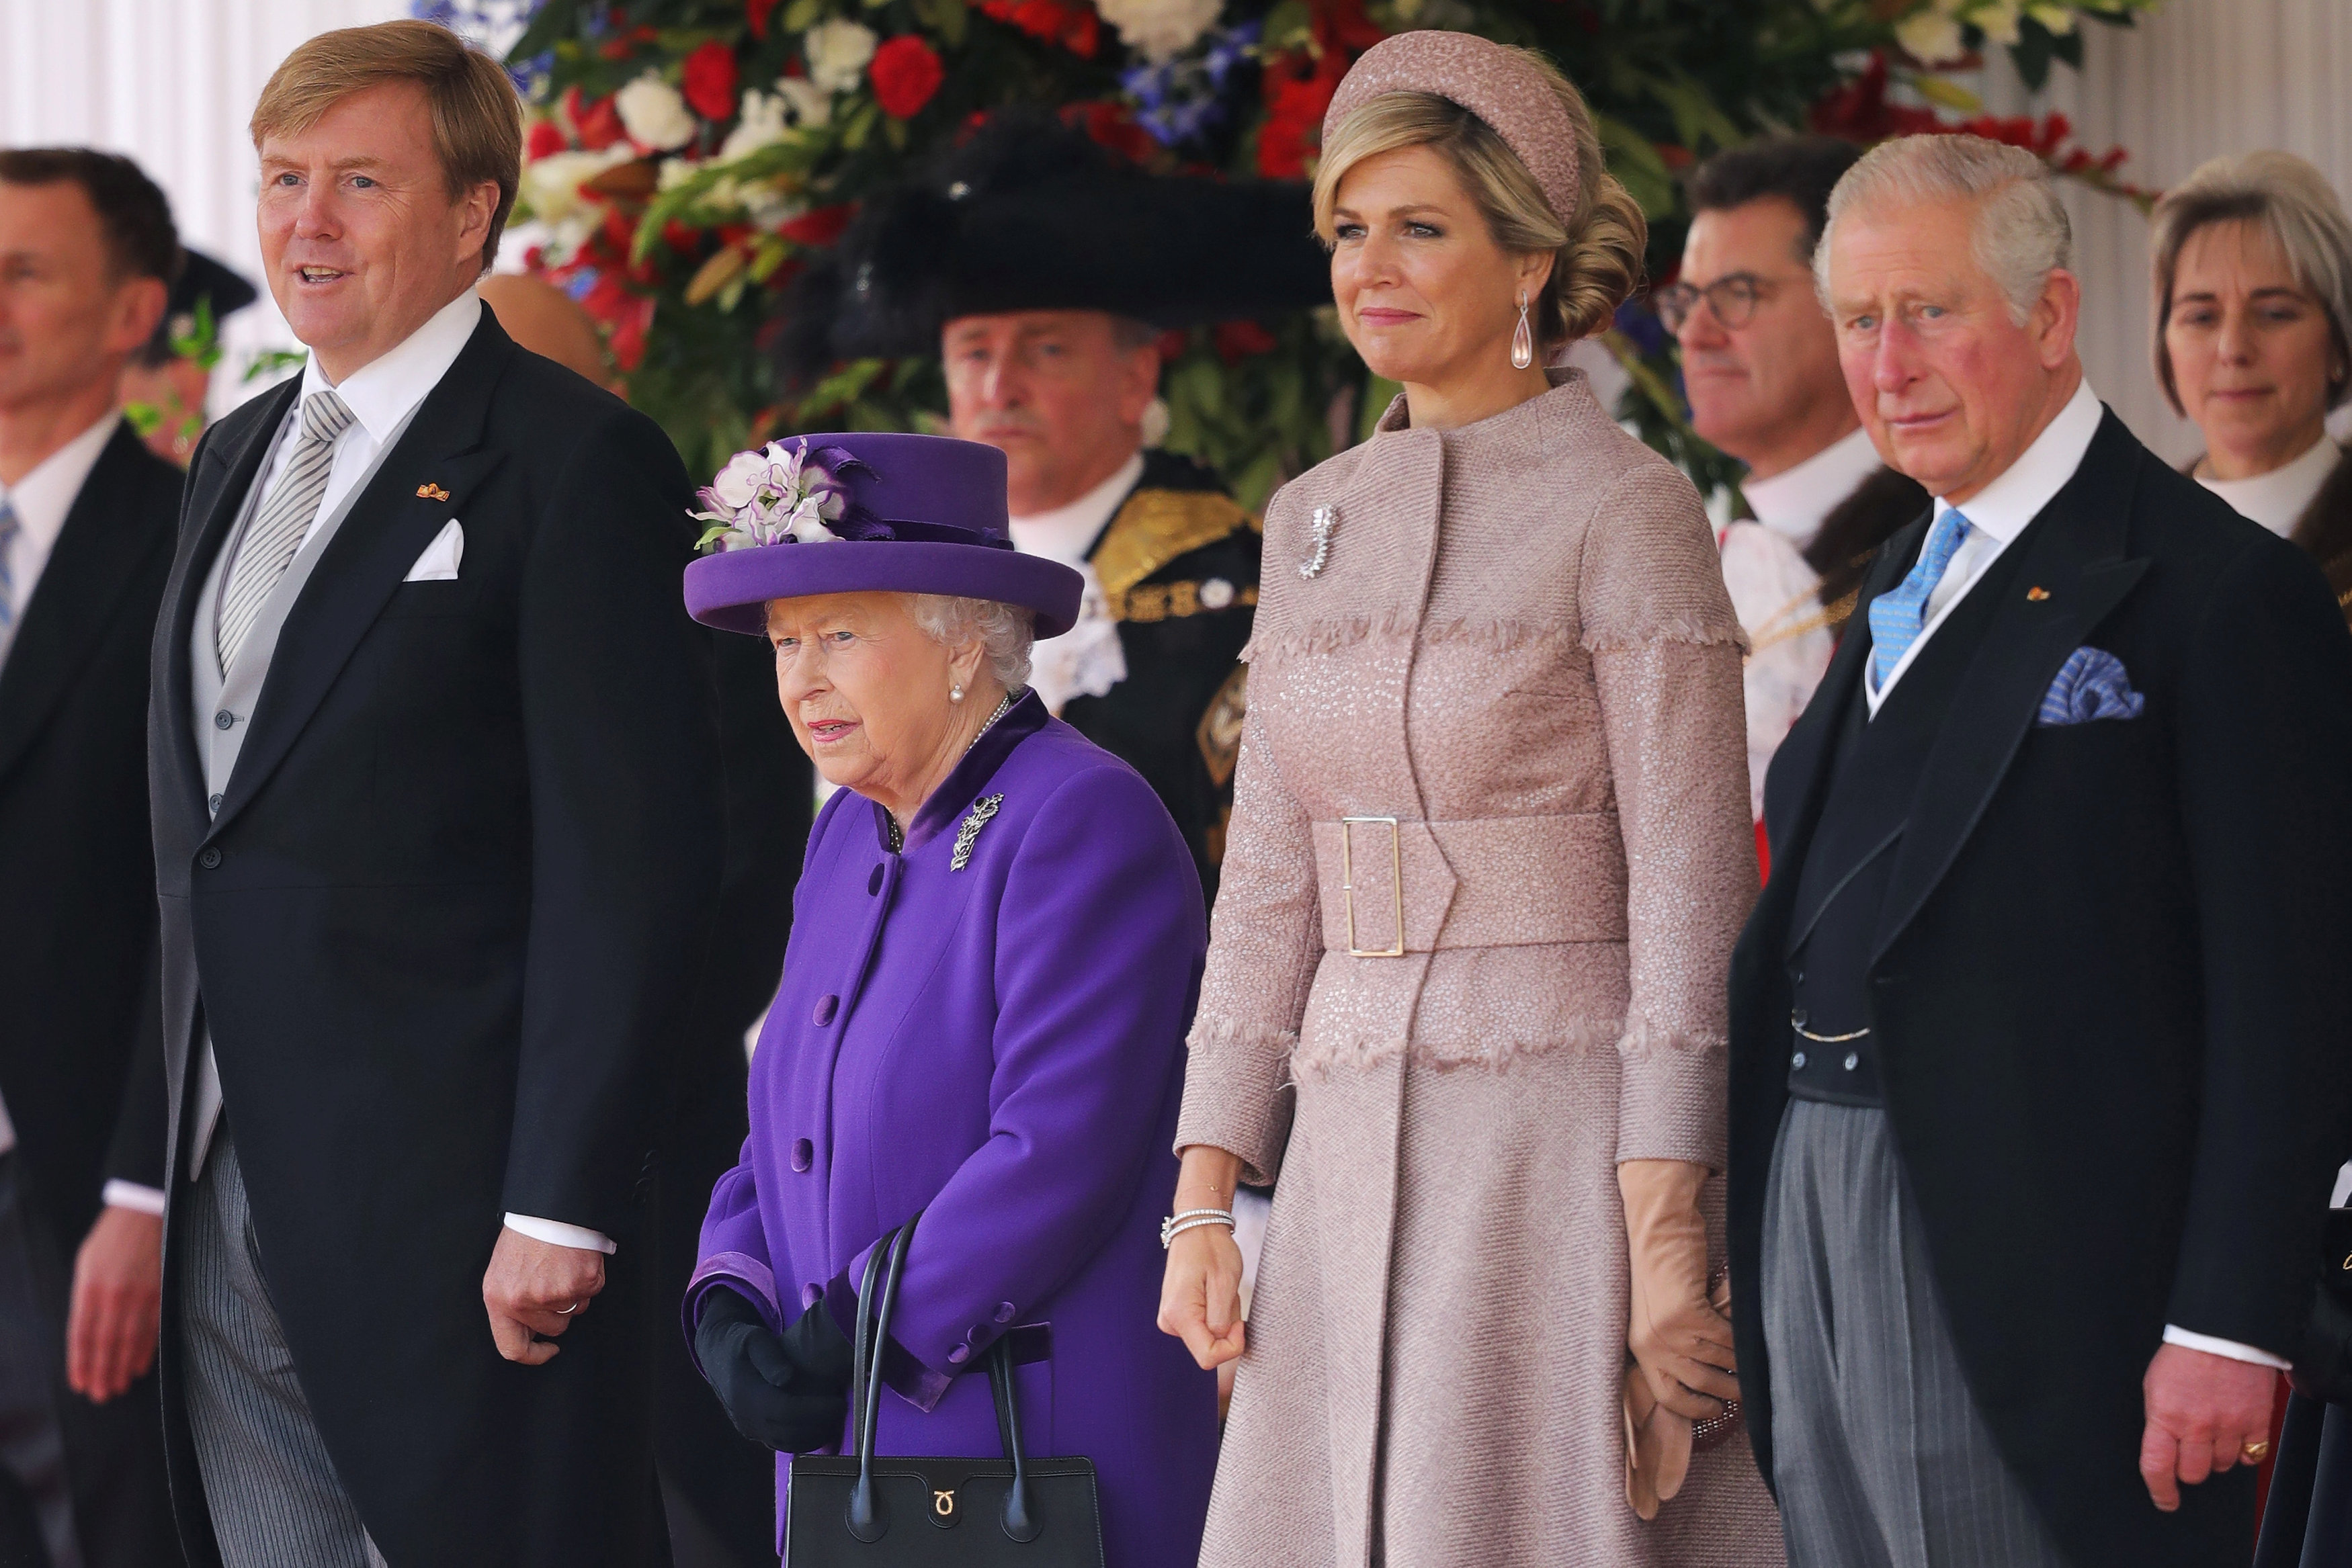
[[[1157,341],[1331,303],[1305,186],[1152,179],[1004,113],[868,202],[809,284],[797,315],[821,331],[788,343],[788,374],[946,360],[950,433],[1004,451],[1014,543],[1087,578],[1030,682],[1160,792],[1214,903],[1261,538],[1223,480],[1157,449]]]

